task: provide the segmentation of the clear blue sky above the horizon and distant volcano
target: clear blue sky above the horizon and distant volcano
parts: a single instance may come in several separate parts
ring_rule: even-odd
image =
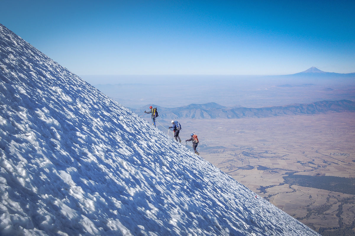
[[[355,1],[1,1],[0,23],[77,75],[355,72]]]

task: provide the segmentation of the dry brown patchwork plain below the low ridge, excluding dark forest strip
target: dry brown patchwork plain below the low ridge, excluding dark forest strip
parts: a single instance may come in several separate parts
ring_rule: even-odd
[[[355,178],[355,112],[180,123],[183,141],[192,132],[198,135],[201,157],[289,215],[315,230],[355,231],[353,192],[283,179],[292,174]]]

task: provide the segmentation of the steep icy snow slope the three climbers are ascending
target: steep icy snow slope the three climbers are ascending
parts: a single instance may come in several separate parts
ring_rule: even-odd
[[[0,31],[0,235],[317,235]]]

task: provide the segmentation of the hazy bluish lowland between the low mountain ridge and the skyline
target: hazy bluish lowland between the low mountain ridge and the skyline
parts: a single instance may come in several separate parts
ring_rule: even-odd
[[[354,78],[287,76],[82,76],[101,92],[129,108],[147,104],[165,108],[215,102],[223,106],[265,106],[355,100]],[[90,83],[90,82],[89,82]]]

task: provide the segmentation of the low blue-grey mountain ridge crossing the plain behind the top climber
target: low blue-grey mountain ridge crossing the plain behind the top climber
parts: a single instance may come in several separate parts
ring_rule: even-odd
[[[138,115],[142,115],[145,110],[149,110],[149,106],[150,105],[144,106],[140,109],[131,110]],[[261,118],[285,115],[313,115],[324,112],[355,112],[355,101],[350,100],[324,100],[311,104],[291,104],[263,108],[227,107],[217,103],[190,104],[178,108],[163,108],[157,105],[152,106],[158,108],[159,117],[162,119],[238,119],[242,117]]]

